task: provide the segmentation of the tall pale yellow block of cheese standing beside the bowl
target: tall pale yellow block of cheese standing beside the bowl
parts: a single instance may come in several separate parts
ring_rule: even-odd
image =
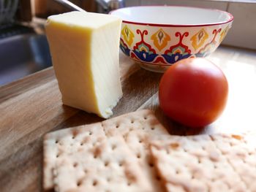
[[[122,96],[121,19],[91,12],[52,15],[45,25],[62,101],[102,118]]]

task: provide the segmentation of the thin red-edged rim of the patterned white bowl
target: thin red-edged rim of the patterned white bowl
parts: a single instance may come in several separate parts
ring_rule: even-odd
[[[133,7],[185,7],[185,8],[196,8],[196,9],[204,9],[204,10],[211,10],[216,12],[222,12],[226,15],[228,15],[230,18],[228,20],[222,21],[222,22],[216,22],[216,23],[202,23],[202,24],[165,24],[165,23],[144,23],[144,22],[135,22],[135,21],[129,21],[129,20],[122,20],[123,23],[129,23],[129,24],[135,24],[135,25],[142,25],[142,26],[165,26],[165,27],[197,27],[197,26],[217,26],[222,25],[225,23],[230,23],[234,20],[233,15],[230,12],[225,12],[220,9],[210,9],[210,8],[203,8],[203,7],[192,7],[192,6],[173,6],[173,5],[140,5],[140,6],[133,6]],[[123,7],[120,9],[129,9],[133,7]],[[113,11],[110,11],[109,14],[113,15],[114,12],[120,10],[115,9]]]

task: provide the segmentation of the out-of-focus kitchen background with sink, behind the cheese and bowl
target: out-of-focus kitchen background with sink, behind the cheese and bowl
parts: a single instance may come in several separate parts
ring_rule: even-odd
[[[256,0],[70,0],[88,12],[118,7],[181,5],[221,9],[234,16],[222,45],[256,50]],[[69,12],[67,0],[0,0],[0,85],[51,66],[44,24],[49,15]],[[178,18],[177,18],[178,20]]]

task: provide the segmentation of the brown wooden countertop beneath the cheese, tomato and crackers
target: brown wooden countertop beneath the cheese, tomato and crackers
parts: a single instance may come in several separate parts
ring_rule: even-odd
[[[208,58],[229,82],[222,116],[210,126],[189,129],[167,119],[158,104],[162,74],[148,72],[120,53],[124,96],[113,116],[149,108],[170,134],[256,131],[256,51],[219,47]],[[0,191],[42,191],[42,137],[49,131],[103,120],[61,103],[50,67],[0,87]]]

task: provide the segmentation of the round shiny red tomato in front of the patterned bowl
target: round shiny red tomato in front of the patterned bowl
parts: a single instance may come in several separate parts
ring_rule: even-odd
[[[159,104],[173,120],[190,127],[202,127],[219,117],[227,94],[227,79],[218,66],[205,58],[187,58],[163,74]]]

